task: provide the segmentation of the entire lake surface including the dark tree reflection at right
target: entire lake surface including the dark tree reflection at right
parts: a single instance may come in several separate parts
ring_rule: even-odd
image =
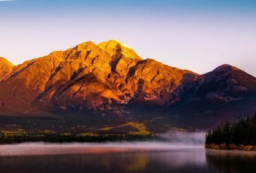
[[[167,145],[5,145],[0,172],[256,172],[256,152]]]

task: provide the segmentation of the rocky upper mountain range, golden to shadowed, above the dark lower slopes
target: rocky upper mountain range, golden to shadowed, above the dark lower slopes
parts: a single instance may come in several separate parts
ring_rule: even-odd
[[[231,65],[208,74],[142,59],[115,40],[91,41],[14,67],[0,58],[0,110],[169,108],[195,98],[243,99],[256,79]]]

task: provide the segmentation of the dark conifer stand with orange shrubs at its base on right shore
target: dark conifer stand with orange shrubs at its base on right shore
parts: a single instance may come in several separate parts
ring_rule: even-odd
[[[206,134],[206,148],[256,150],[256,114],[240,119],[237,124],[226,122]]]

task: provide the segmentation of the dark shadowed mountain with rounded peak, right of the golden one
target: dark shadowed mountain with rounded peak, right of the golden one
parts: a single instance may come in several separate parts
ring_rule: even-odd
[[[190,84],[180,101],[166,108],[165,123],[209,129],[256,112],[256,78],[236,67],[221,65]]]

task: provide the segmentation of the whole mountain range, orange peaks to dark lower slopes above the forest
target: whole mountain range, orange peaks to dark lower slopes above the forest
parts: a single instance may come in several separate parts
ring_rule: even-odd
[[[88,41],[16,66],[0,57],[0,67],[0,114],[5,119],[75,115],[78,121],[88,119],[86,124],[92,119],[112,125],[134,120],[152,129],[204,129],[256,111],[252,75],[227,64],[199,75],[144,60],[115,40]]]

